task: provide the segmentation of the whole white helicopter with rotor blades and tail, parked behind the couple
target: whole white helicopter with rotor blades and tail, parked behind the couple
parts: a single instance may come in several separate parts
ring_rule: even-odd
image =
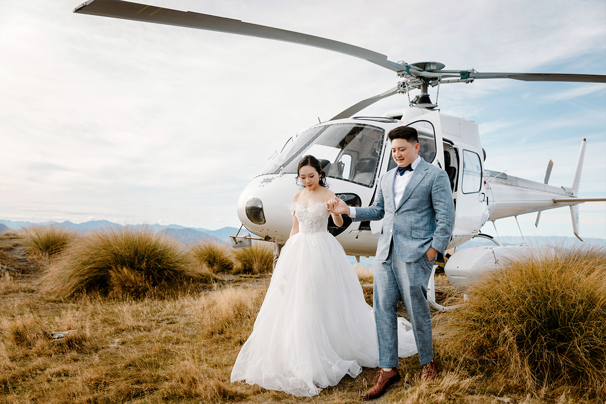
[[[248,233],[234,235],[233,246],[236,248],[250,245],[253,239],[265,240],[275,243],[276,254],[279,254],[291,228],[291,216],[285,207],[299,190],[295,180],[296,167],[305,154],[313,154],[321,161],[331,190],[348,205],[371,205],[379,178],[395,167],[387,133],[402,125],[416,128],[421,146],[419,154],[425,161],[445,170],[450,179],[456,218],[448,248],[462,245],[473,237],[484,237],[500,245],[497,237],[481,233],[488,221],[494,223],[505,217],[538,213],[538,225],[541,211],[559,207],[570,208],[574,234],[581,239],[578,205],[605,200],[578,196],[585,141],[581,145],[570,187],[548,184],[553,164],[548,165],[544,182],[488,170],[484,167],[485,152],[478,125],[442,113],[431,101],[429,90],[439,88],[441,84],[470,84],[481,79],[606,83],[606,76],[485,73],[474,69],[445,70],[445,64],[436,61],[393,62],[381,53],[327,38],[237,19],[119,0],[87,1],[76,7],[74,12],[308,45],[363,59],[396,74],[395,87],[364,99],[285,142],[270,164],[244,188],[239,197],[238,217],[242,226],[255,236]],[[419,91],[419,94],[411,99],[413,91]],[[382,116],[356,116],[369,105],[395,94],[408,96],[408,108],[387,111]],[[342,227],[336,227],[332,222],[328,225],[328,231],[341,243],[345,252],[357,259],[375,255],[380,230],[381,222],[352,222],[347,217]],[[443,268],[451,282],[457,276],[466,279],[464,274],[449,271],[445,258],[442,257]]]

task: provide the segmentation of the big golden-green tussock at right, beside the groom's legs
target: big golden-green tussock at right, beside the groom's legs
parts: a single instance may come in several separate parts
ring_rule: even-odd
[[[441,350],[531,391],[570,383],[606,397],[606,247],[512,259],[470,296]]]

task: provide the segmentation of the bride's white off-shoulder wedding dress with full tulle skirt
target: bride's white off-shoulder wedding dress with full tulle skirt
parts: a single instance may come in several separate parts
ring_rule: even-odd
[[[341,244],[327,231],[325,202],[290,205],[299,233],[282,248],[252,334],[231,371],[245,380],[295,396],[315,396],[376,368],[373,309]],[[410,323],[398,319],[398,355],[417,353]]]

